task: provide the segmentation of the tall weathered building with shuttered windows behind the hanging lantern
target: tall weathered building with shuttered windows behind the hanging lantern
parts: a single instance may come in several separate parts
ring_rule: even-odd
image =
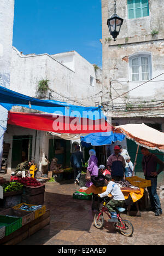
[[[163,11],[162,0],[117,0],[116,13],[124,22],[114,42],[107,26],[114,0],[102,0],[102,102],[114,125],[144,123],[164,131]],[[122,145],[134,161],[137,146],[126,139]],[[140,164],[136,170],[142,176]]]

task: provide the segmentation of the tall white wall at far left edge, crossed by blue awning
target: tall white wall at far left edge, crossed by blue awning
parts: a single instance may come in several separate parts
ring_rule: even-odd
[[[13,41],[14,0],[0,1],[0,85],[10,87],[10,59]],[[7,110],[0,106],[0,167],[3,135],[7,127]]]

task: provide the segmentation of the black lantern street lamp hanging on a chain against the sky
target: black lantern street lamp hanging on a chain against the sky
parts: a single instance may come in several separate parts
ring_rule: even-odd
[[[114,14],[110,19],[107,21],[107,25],[109,27],[109,32],[111,36],[114,38],[114,41],[116,41],[116,37],[120,33],[120,28],[122,26],[124,19],[121,19],[117,14],[116,14],[116,0],[114,1]]]

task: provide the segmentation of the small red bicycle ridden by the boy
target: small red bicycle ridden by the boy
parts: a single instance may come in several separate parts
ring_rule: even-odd
[[[102,229],[104,227],[103,213],[106,213],[107,216],[109,217],[109,219],[112,218],[110,216],[110,213],[108,212],[108,208],[106,207],[107,202],[109,201],[109,197],[108,197],[108,199],[107,199],[107,197],[103,198],[103,201],[104,201],[103,206],[102,206],[101,210],[95,214],[95,217],[94,217],[94,224],[97,229]],[[120,213],[123,211],[125,211],[125,208],[120,208],[120,207],[117,208],[118,222],[114,223],[114,226],[115,226],[116,230],[119,230],[121,232],[122,235],[132,236],[133,231],[134,231],[133,225],[129,220],[121,218]]]

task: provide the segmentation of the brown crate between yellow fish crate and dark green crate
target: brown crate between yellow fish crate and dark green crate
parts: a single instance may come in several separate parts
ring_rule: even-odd
[[[1,215],[3,216],[8,215],[8,216],[22,218],[22,226],[26,225],[29,222],[32,222],[32,220],[35,219],[34,212],[20,212],[20,211],[14,210],[13,208],[9,208],[7,210],[2,211]]]

